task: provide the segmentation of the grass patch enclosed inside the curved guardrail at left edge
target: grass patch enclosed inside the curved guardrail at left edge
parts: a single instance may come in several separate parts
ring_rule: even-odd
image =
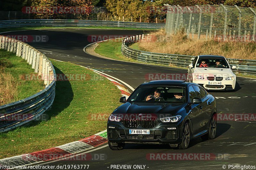
[[[27,98],[44,89],[42,80],[30,81],[34,69],[21,57],[0,49],[0,105]]]

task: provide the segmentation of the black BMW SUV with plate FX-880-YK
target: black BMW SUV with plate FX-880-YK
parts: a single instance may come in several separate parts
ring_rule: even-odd
[[[126,143],[170,144],[188,148],[191,139],[216,136],[214,97],[195,83],[156,80],[143,83],[108,118],[108,145],[121,150]]]

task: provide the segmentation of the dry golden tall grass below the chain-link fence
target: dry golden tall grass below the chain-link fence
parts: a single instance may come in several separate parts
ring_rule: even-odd
[[[196,38],[196,37],[194,37]],[[148,39],[140,41],[140,50],[181,55],[223,55],[227,58],[256,59],[256,43],[218,42],[214,40],[190,40],[180,31],[168,36],[164,30],[153,32]]]

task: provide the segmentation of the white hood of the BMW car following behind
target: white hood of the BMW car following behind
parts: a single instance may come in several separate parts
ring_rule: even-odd
[[[207,74],[209,76],[216,75],[217,77],[233,76],[233,72],[231,69],[223,69],[223,68],[196,68],[194,74],[205,74],[205,75]]]

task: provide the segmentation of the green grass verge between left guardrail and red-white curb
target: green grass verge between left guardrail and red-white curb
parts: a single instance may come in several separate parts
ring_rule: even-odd
[[[0,134],[0,159],[94,135],[106,129],[108,115],[120,105],[121,92],[107,78],[76,64],[51,61],[57,74],[85,74],[85,80],[57,81],[52,108],[41,116],[46,120]]]

